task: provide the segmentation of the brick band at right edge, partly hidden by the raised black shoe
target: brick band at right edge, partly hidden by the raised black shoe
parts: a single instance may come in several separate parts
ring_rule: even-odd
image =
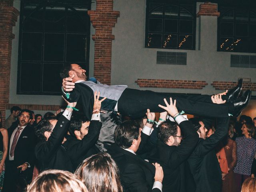
[[[229,90],[237,85],[237,82],[228,82],[228,81],[214,81],[211,85],[216,90]],[[252,91],[256,91],[256,83],[253,82],[243,82],[242,90],[250,89]]]

